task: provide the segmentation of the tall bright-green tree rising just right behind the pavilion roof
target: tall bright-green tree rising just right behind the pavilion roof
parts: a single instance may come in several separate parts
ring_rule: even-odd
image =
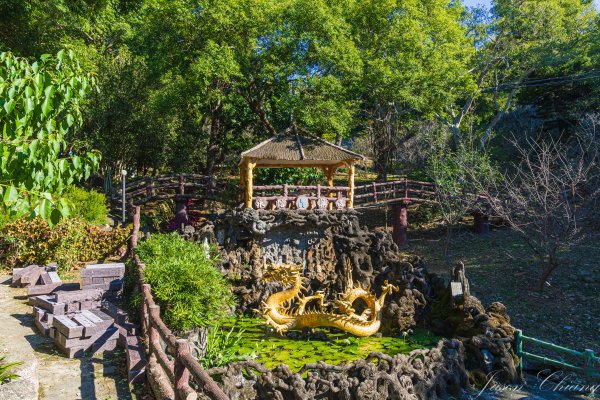
[[[356,97],[380,179],[411,125],[444,114],[471,91],[475,48],[460,23],[462,11],[447,0],[375,0],[349,8],[363,66]]]

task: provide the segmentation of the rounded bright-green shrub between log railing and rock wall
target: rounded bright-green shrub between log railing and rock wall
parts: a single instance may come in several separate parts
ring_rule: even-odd
[[[146,264],[144,279],[161,306],[165,323],[188,331],[218,323],[233,305],[231,286],[216,269],[216,252],[177,234],[152,235],[137,252]]]

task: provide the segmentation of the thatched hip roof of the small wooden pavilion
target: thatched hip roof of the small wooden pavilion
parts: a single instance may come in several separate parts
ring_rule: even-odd
[[[332,165],[363,160],[364,156],[312,136],[292,125],[285,131],[242,153],[258,165]]]

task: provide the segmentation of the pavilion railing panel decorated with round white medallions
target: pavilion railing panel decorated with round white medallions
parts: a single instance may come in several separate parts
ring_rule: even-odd
[[[265,185],[253,186],[252,207],[256,209],[344,209],[350,188],[347,186]]]

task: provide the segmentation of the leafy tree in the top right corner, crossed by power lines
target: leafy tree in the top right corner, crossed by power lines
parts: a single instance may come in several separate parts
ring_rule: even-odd
[[[593,32],[595,16],[586,0],[495,0],[489,14],[472,9],[465,25],[478,49],[469,69],[475,88],[457,93],[458,101],[439,115],[455,143],[475,128],[487,145],[501,119],[522,102],[524,88],[540,80],[547,84],[544,78],[563,75],[574,60],[584,61],[580,49]]]

